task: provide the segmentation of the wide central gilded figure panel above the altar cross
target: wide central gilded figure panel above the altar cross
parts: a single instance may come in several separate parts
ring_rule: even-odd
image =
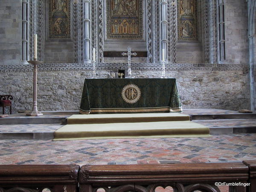
[[[142,0],[107,0],[107,38],[143,38],[142,3]]]

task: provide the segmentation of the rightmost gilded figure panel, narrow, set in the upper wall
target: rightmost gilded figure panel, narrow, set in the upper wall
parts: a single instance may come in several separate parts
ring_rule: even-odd
[[[196,0],[178,0],[178,39],[197,40]]]

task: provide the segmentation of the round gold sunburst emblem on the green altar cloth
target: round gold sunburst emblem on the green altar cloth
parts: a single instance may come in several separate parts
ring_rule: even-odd
[[[122,99],[130,104],[139,101],[141,96],[140,88],[136,84],[127,84],[121,92]]]

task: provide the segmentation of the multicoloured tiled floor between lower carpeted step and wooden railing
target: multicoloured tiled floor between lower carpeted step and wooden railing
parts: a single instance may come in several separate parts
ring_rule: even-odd
[[[256,159],[256,134],[205,138],[0,140],[0,164],[145,164]]]

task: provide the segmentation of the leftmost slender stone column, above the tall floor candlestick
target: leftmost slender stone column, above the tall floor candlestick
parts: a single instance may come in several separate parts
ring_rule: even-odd
[[[28,64],[29,60],[29,0],[22,0],[21,15],[21,64]]]

